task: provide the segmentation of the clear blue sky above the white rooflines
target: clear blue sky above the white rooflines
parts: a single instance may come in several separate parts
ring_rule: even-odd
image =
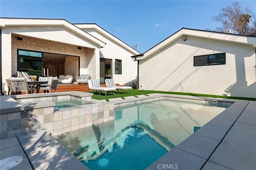
[[[144,53],[182,27],[215,28],[212,17],[232,0],[0,0],[0,17],[56,18],[71,23],[96,23],[137,51]],[[242,0],[243,8],[256,7]]]

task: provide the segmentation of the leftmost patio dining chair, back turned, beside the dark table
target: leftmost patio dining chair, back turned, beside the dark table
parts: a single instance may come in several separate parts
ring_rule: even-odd
[[[34,93],[35,87],[29,87],[26,79],[8,79],[6,82],[10,82],[10,92],[16,92],[16,94],[21,94],[21,92]]]

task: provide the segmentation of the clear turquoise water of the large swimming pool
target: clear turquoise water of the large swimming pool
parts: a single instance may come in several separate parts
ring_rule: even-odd
[[[159,100],[115,108],[115,119],[63,134],[66,149],[92,170],[144,170],[226,107]]]

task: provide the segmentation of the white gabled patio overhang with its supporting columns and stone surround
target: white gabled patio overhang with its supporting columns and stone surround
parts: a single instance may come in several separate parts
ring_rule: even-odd
[[[6,92],[5,79],[17,71],[18,49],[79,56],[80,74],[88,72],[99,77],[100,48],[106,43],[66,20],[0,18],[0,21],[1,93]]]

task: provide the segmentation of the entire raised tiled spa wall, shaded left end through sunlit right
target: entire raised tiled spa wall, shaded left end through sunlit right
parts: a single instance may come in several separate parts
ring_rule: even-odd
[[[49,105],[49,104],[48,104]],[[81,105],[54,111],[54,106],[0,115],[0,139],[45,129],[52,136],[114,120],[114,104]]]

